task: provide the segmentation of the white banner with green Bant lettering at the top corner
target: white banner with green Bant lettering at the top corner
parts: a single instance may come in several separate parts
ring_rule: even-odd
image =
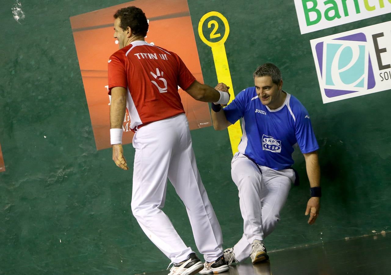
[[[294,0],[301,34],[391,13],[391,0]]]

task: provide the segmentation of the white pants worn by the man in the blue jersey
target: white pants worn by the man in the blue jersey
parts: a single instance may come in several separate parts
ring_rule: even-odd
[[[266,166],[258,167],[241,153],[236,153],[231,162],[232,180],[239,189],[244,221],[243,236],[233,247],[238,261],[249,257],[255,239],[262,241],[274,230],[295,180],[292,169],[277,171]]]

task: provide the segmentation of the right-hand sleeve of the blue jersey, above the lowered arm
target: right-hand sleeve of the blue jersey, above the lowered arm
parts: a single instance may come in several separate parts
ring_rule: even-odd
[[[301,153],[311,153],[319,149],[314,130],[312,129],[310,116],[304,106],[302,106],[296,115],[295,134]]]

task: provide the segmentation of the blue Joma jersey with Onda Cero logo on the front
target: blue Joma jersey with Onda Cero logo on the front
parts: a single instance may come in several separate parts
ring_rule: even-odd
[[[280,108],[270,110],[261,103],[255,87],[249,87],[223,110],[232,124],[242,118],[243,135],[238,150],[258,165],[275,170],[291,167],[296,143],[301,153],[319,149],[307,110],[289,93]]]

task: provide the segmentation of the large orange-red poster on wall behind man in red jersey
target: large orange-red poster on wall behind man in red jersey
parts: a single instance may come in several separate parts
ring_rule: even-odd
[[[147,16],[149,30],[145,41],[176,52],[197,81],[203,83],[187,0],[135,0],[72,16],[70,22],[98,150],[111,147],[107,62],[111,54],[118,50],[118,41],[113,38],[113,14],[118,9],[131,5],[140,7]],[[208,103],[196,101],[179,87],[178,89],[190,129],[212,126]],[[130,119],[126,113],[123,144],[132,142],[133,132],[129,125]]]

